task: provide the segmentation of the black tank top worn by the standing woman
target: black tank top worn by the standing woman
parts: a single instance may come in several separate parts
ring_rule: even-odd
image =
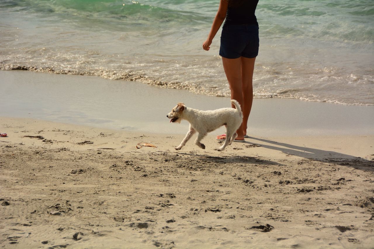
[[[232,24],[254,24],[258,26],[255,10],[258,0],[244,0],[240,6],[228,7],[226,12],[225,25]]]

